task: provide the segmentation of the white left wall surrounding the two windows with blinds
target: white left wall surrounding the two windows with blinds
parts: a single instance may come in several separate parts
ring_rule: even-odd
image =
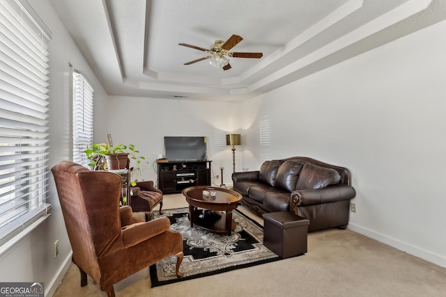
[[[29,1],[53,33],[49,46],[49,162],[48,168],[69,159],[70,97],[68,62],[85,72],[95,88],[95,103],[105,106],[107,95],[89,65],[63,27],[47,0]],[[38,2],[38,3],[37,3]],[[101,127],[101,124],[98,125]],[[101,129],[101,128],[100,128]],[[104,128],[102,128],[104,131]],[[105,133],[105,132],[104,132]],[[71,262],[71,247],[61,215],[54,179],[49,173],[49,198],[52,216],[22,241],[0,255],[2,282],[45,282],[45,295],[51,296]],[[59,240],[59,255],[54,258],[54,241]],[[80,281],[79,281],[80,283]]]

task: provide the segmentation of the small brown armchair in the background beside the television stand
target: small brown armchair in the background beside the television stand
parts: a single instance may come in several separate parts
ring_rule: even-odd
[[[146,213],[148,220],[152,219],[152,211],[160,204],[160,214],[162,208],[162,191],[153,186],[153,181],[137,182],[136,186],[130,189],[132,197],[130,198],[130,206],[133,212],[143,211]]]

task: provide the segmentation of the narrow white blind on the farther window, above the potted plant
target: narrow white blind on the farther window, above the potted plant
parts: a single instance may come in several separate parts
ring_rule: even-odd
[[[73,71],[72,88],[72,160],[89,166],[84,151],[93,144],[93,88],[81,72]]]

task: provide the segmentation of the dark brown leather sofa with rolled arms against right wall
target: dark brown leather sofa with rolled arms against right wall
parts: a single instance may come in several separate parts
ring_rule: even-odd
[[[309,220],[309,232],[345,228],[356,195],[347,168],[305,156],[266,161],[260,170],[235,172],[232,179],[242,203],[256,214],[291,211]]]

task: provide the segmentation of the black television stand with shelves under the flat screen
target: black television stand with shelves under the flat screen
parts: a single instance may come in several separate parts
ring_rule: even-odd
[[[163,194],[174,194],[190,186],[210,186],[210,162],[157,162],[158,188]]]

